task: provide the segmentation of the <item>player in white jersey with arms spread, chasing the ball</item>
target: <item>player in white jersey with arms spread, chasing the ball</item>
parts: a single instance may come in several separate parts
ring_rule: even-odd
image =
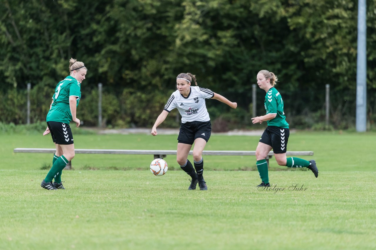
[[[217,99],[234,109],[238,105],[236,102],[230,102],[225,97],[207,88],[192,87],[192,81],[197,85],[196,76],[191,73],[180,73],[176,77],[177,90],[171,94],[164,110],[155,121],[152,135],[158,134],[158,125],[166,119],[172,109],[176,108],[182,116],[179,136],[177,137],[176,161],[179,163],[180,168],[192,178],[188,190],[196,189],[197,183],[199,183],[200,190],[208,190],[203,177],[204,161],[202,159],[202,151],[211,135],[211,123],[205,99]],[[188,160],[188,153],[193,143],[193,163],[196,171]]]

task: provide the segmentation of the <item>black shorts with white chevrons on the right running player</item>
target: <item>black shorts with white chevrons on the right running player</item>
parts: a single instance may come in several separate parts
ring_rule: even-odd
[[[290,129],[267,126],[259,142],[271,146],[274,154],[283,154],[287,151],[288,136],[290,136]]]

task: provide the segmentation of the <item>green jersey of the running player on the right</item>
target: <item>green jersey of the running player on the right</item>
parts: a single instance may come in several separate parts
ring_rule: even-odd
[[[268,121],[268,126],[288,128],[285,112],[283,112],[283,100],[276,88],[270,88],[265,95],[266,114],[277,114]]]

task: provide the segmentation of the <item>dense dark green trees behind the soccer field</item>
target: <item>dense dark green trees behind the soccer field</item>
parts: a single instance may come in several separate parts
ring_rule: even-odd
[[[267,69],[279,77],[292,126],[323,122],[325,84],[331,122],[355,123],[357,3],[351,0],[1,0],[0,119],[25,122],[26,84],[32,121],[49,109],[68,60],[88,68],[78,112],[96,125],[97,84],[109,126],[150,126],[181,72],[238,102],[208,101],[212,120],[250,125],[252,84]],[[367,1],[368,121],[376,121],[376,2]],[[258,92],[258,113],[264,114]],[[81,110],[80,110],[81,109]],[[171,115],[165,126],[176,126]]]

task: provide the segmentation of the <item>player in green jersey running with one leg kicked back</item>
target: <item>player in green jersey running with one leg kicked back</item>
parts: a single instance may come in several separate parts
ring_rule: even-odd
[[[266,157],[271,149],[273,149],[278,165],[289,168],[309,168],[316,178],[318,176],[315,160],[308,161],[297,157],[286,157],[290,130],[283,111],[282,97],[276,88],[274,88],[277,81],[277,76],[268,70],[261,70],[257,74],[257,84],[262,90],[266,91],[264,101],[266,115],[253,117],[252,123],[262,123],[263,121],[267,121],[268,123],[256,148],[256,165],[262,180],[262,183],[258,187],[270,186]]]

